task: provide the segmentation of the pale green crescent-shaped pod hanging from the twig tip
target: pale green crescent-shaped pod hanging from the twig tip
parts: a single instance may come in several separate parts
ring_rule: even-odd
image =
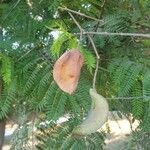
[[[101,128],[107,120],[109,111],[107,100],[94,89],[90,89],[89,92],[92,99],[91,110],[82,124],[74,128],[72,135],[86,136],[94,133]]]

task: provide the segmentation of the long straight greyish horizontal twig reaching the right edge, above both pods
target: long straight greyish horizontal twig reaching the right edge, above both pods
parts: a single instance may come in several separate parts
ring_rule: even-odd
[[[75,33],[75,34],[80,34],[80,33]],[[96,34],[96,35],[106,35],[106,36],[117,35],[117,36],[133,36],[133,37],[146,37],[146,38],[150,38],[150,34],[144,34],[144,33],[83,32],[83,34],[87,34],[87,35]]]

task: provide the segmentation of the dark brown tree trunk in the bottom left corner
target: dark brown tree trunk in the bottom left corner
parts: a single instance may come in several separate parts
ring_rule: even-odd
[[[6,120],[0,120],[0,150],[2,150],[2,146],[4,143],[4,137],[5,137],[5,125],[6,125]]]

